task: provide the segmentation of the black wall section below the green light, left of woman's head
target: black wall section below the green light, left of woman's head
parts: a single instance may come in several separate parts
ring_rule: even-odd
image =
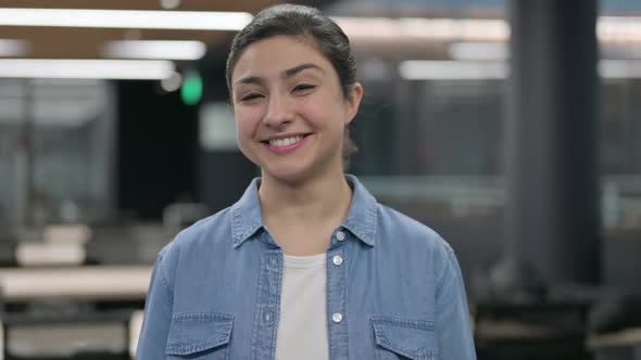
[[[117,208],[160,219],[167,204],[193,197],[198,108],[156,81],[120,81],[117,102]]]

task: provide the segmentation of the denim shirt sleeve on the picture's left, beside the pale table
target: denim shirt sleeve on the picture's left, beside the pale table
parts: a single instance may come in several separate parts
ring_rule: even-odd
[[[137,360],[165,358],[165,347],[172,322],[173,296],[163,269],[163,257],[159,255],[151,284],[144,303],[144,319],[138,338]]]

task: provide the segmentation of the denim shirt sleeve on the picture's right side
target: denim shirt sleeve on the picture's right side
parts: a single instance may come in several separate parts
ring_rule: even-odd
[[[463,275],[454,252],[447,243],[444,245],[445,268],[437,286],[436,308],[439,360],[475,360]]]

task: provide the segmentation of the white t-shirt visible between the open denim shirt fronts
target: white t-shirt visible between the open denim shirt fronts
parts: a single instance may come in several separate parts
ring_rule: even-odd
[[[276,360],[327,360],[326,254],[285,255]]]

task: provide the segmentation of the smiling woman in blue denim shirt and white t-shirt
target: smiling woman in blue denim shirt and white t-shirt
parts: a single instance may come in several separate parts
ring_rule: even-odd
[[[342,30],[264,10],[227,83],[262,176],[160,253],[138,359],[475,359],[451,247],[343,173],[363,87]]]

